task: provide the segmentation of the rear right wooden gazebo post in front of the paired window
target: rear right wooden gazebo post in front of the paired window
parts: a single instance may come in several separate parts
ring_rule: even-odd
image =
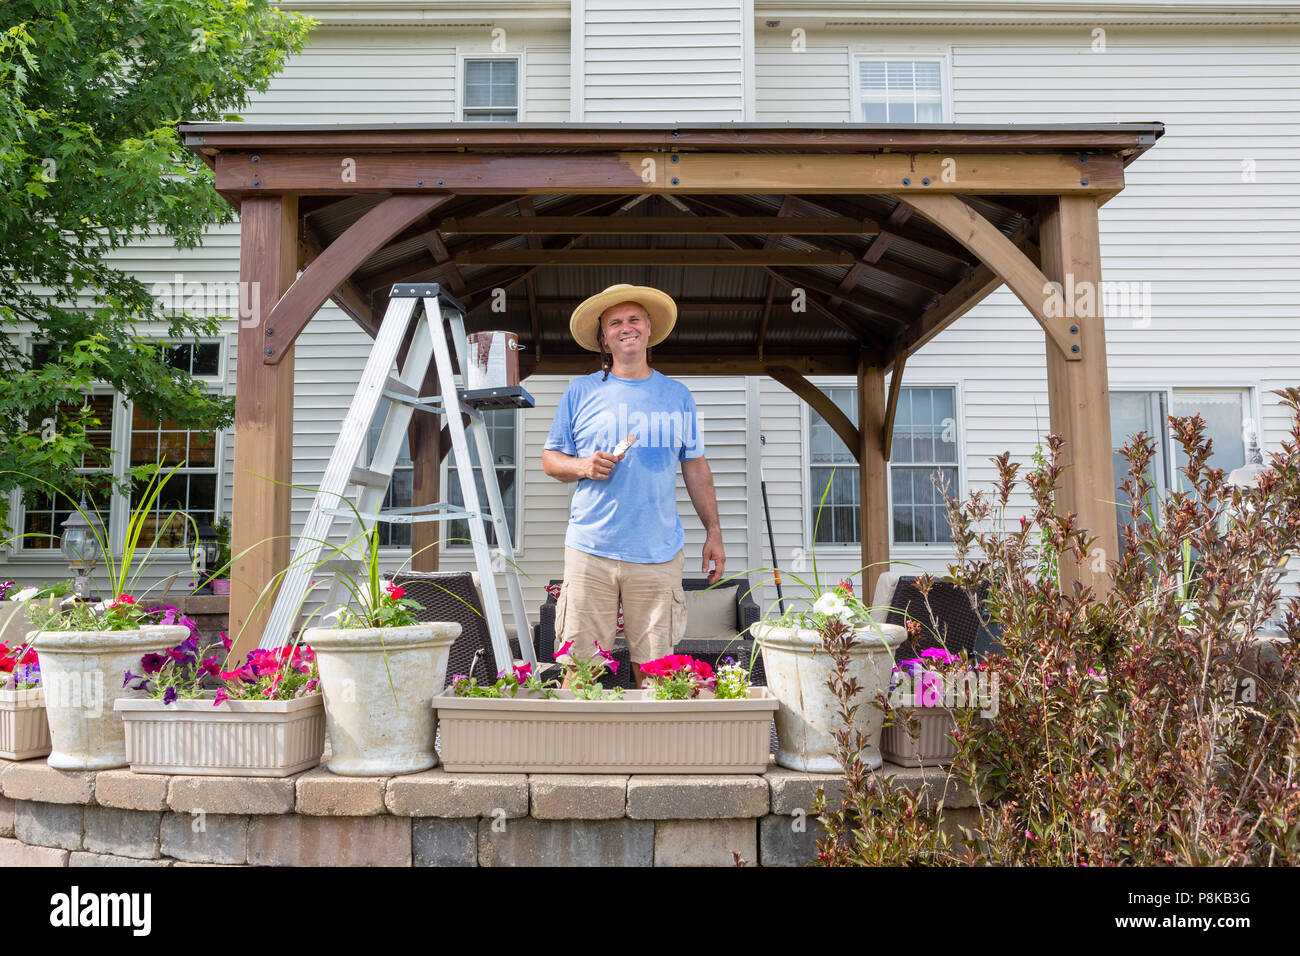
[[[889,566],[889,472],[884,434],[885,373],[862,350],[858,352],[858,533],[866,571],[859,597],[867,604]]]

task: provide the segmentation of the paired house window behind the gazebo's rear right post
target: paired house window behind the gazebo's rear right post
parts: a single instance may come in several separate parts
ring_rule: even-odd
[[[858,421],[855,386],[823,389],[852,423]],[[935,476],[958,493],[957,390],[905,386],[898,393],[889,455],[890,531],[894,544],[952,541],[948,509]],[[833,472],[833,477],[832,477]],[[827,490],[827,483],[831,484]],[[840,437],[809,410],[810,527],[816,544],[858,544],[858,463]],[[826,502],[822,494],[826,492]],[[820,503],[822,516],[818,520]]]

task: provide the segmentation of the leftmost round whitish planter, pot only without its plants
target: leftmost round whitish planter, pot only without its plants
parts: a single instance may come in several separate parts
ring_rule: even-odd
[[[60,770],[108,770],[126,766],[126,736],[113,705],[139,697],[122,687],[122,675],[144,671],[140,658],[162,653],[190,636],[179,624],[136,631],[42,631],[36,635],[40,683],[46,692],[52,750]]]

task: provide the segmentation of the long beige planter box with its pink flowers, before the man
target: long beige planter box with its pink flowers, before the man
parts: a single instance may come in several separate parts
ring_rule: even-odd
[[[454,678],[436,700],[442,763],[456,773],[758,774],[767,767],[776,701],[732,663],[670,656],[642,665],[646,687],[606,689],[618,666],[564,644],[555,659],[569,687],[543,684],[526,667],[480,687]]]

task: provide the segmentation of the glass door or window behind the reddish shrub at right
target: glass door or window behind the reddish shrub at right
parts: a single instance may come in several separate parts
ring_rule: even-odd
[[[1249,389],[1143,389],[1110,393],[1110,446],[1114,457],[1117,522],[1121,536],[1132,522],[1128,498],[1121,484],[1128,475],[1128,462],[1119,449],[1138,432],[1147,432],[1156,441],[1156,454],[1148,472],[1152,494],[1147,507],[1158,515],[1157,503],[1169,490],[1190,490],[1187,455],[1174,442],[1167,416],[1200,415],[1205,420],[1205,437],[1212,445],[1209,464],[1231,472],[1245,464],[1245,429],[1252,424]]]

